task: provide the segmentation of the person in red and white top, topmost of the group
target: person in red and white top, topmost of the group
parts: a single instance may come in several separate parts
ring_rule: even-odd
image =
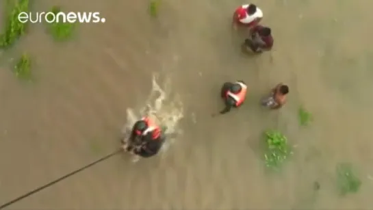
[[[250,3],[237,8],[233,14],[233,27],[237,29],[238,25],[246,27],[255,27],[263,18],[263,12],[257,5]]]

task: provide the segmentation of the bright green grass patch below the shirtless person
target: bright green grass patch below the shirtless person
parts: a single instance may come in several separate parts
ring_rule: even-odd
[[[269,168],[279,168],[282,163],[292,155],[291,146],[287,137],[279,131],[266,131],[266,153],[264,158]]]

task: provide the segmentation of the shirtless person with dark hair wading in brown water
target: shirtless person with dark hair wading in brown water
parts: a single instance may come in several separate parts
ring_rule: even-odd
[[[289,87],[283,83],[279,83],[276,87],[272,88],[270,96],[261,101],[261,105],[270,109],[279,109],[286,103],[288,93]]]

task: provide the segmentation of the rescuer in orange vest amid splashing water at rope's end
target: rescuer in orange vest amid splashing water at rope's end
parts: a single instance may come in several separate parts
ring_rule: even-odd
[[[129,142],[123,148],[140,157],[151,157],[159,152],[164,140],[162,130],[146,117],[133,125]]]

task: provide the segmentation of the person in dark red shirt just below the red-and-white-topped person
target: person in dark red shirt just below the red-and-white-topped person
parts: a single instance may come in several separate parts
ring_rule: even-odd
[[[245,40],[245,45],[255,53],[271,50],[273,47],[272,30],[262,25],[255,26],[250,31],[250,38]]]

